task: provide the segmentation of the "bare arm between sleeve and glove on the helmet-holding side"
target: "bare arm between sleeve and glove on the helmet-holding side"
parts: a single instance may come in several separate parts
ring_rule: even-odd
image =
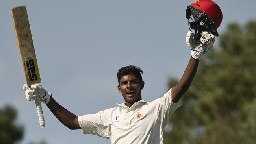
[[[192,57],[189,60],[186,70],[183,73],[182,78],[178,85],[173,87],[172,89],[172,102],[177,103],[181,96],[189,89],[193,78],[197,72],[197,67],[199,64],[199,60],[193,59]]]

